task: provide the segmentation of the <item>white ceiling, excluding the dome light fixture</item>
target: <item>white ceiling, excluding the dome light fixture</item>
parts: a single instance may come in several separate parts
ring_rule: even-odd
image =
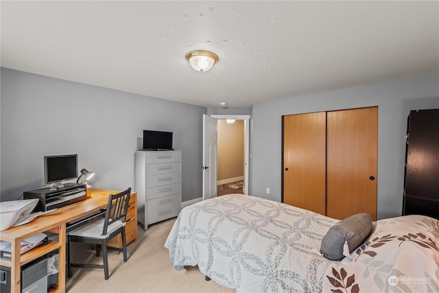
[[[1,66],[200,106],[439,73],[439,1],[1,1]],[[210,71],[186,54],[219,57]]]

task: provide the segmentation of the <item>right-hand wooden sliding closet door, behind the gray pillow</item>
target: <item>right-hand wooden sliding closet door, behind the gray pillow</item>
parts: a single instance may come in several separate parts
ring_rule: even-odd
[[[377,218],[378,108],[327,113],[327,216]]]

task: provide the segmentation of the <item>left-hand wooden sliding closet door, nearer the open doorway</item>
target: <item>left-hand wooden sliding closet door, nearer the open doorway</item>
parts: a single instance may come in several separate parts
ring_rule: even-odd
[[[283,117],[283,202],[325,213],[326,113]]]

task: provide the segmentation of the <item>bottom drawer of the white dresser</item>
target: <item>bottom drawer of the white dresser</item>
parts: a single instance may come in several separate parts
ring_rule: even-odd
[[[181,194],[147,200],[145,204],[146,224],[176,217],[181,209]]]

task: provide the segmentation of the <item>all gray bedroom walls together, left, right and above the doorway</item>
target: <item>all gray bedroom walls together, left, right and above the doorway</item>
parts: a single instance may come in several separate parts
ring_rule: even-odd
[[[201,197],[202,114],[208,109],[42,75],[1,69],[1,200],[43,184],[43,156],[78,154],[93,188],[134,187],[143,129],[174,132],[182,150],[182,200]],[[439,76],[289,97],[250,109],[250,194],[281,201],[282,115],[379,107],[378,218],[401,215],[410,110],[439,108]],[[90,122],[90,125],[88,125]],[[270,187],[270,194],[265,194]]]

